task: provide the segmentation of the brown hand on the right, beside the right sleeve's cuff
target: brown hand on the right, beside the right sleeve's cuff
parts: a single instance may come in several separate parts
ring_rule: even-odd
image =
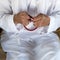
[[[50,23],[50,18],[47,15],[39,14],[34,17],[33,22],[36,27],[48,26]]]

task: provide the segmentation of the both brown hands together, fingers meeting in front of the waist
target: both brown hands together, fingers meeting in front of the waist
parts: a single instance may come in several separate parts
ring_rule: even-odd
[[[32,20],[35,27],[48,26],[50,23],[50,18],[45,14],[38,14],[37,16],[32,17],[27,12],[23,11],[14,15],[15,24],[21,23],[24,26],[27,26],[30,20]]]

